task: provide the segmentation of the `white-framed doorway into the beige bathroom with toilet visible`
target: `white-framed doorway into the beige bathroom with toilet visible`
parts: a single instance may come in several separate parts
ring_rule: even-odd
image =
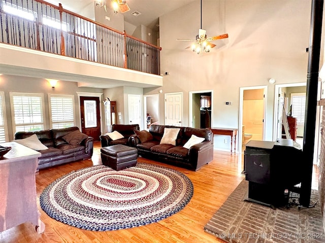
[[[240,88],[238,151],[250,140],[265,140],[267,86]]]

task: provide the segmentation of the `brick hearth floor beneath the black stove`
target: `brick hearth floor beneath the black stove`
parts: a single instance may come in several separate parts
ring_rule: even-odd
[[[317,190],[312,208],[294,205],[271,209],[245,201],[248,181],[243,180],[205,226],[205,231],[231,243],[324,243],[325,233]]]

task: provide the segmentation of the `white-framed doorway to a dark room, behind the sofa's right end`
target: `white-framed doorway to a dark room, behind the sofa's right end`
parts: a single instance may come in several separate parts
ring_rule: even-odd
[[[213,121],[213,90],[189,92],[189,126],[211,128]]]

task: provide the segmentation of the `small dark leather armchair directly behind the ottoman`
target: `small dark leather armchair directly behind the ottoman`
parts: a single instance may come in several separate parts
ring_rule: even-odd
[[[103,134],[100,136],[102,147],[112,146],[116,144],[122,144],[129,146],[129,137],[134,135],[134,130],[140,130],[138,124],[134,125],[123,125],[123,124],[113,124],[111,126],[111,132],[117,131],[123,135],[124,138],[112,140],[108,135]]]

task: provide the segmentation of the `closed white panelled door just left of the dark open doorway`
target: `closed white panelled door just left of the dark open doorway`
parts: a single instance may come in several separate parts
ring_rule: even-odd
[[[165,94],[165,125],[182,126],[183,93]]]

